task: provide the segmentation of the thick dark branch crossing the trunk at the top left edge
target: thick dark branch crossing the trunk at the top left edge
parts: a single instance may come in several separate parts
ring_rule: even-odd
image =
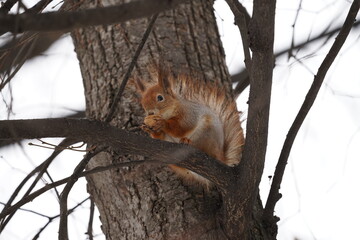
[[[118,6],[86,9],[76,12],[0,15],[0,32],[58,31],[107,25],[148,17],[175,8],[186,0],[139,0]]]

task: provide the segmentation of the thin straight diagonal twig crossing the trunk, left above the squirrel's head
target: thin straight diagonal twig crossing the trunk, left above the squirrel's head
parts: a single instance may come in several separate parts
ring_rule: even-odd
[[[124,78],[123,78],[123,80],[121,82],[120,88],[119,88],[118,92],[115,95],[115,98],[114,98],[113,103],[112,103],[112,105],[110,107],[109,113],[106,116],[105,122],[110,122],[111,119],[114,116],[115,109],[119,104],[121,95],[124,92],[125,86],[126,86],[128,80],[130,78],[131,72],[133,71],[133,69],[134,69],[134,67],[136,65],[137,59],[140,56],[141,50],[143,49],[143,47],[145,45],[145,42],[148,39],[148,37],[149,37],[149,35],[151,33],[151,30],[154,27],[154,23],[155,23],[158,15],[159,14],[155,14],[154,16],[151,17],[151,20],[150,20],[150,22],[149,22],[149,24],[148,24],[148,26],[147,26],[147,28],[146,28],[146,30],[144,32],[144,35],[143,35],[143,37],[141,39],[141,42],[139,43],[139,45],[138,45],[138,47],[137,47],[137,49],[135,51],[134,57],[132,58],[131,63],[129,65],[127,71],[126,71],[126,74],[125,74],[125,76],[124,76]]]

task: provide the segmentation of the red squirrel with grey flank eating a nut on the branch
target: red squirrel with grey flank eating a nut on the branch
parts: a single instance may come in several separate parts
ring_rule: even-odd
[[[173,76],[157,67],[145,85],[134,78],[146,112],[142,129],[152,138],[189,144],[226,165],[239,163],[244,135],[235,100],[216,83],[194,76]],[[200,175],[182,167],[169,167],[186,180],[209,185]]]

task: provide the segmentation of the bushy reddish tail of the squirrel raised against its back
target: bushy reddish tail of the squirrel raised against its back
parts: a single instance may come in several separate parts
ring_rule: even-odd
[[[150,84],[157,84],[158,75],[164,74],[161,71],[152,72]],[[235,100],[226,94],[225,88],[219,84],[201,81],[190,74],[166,75],[172,91],[178,97],[203,104],[219,116],[224,129],[225,164],[238,164],[244,145],[244,134]]]

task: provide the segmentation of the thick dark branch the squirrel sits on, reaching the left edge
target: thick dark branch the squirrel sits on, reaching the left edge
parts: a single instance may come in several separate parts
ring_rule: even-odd
[[[225,187],[234,168],[228,167],[191,146],[160,141],[87,119],[33,119],[0,121],[1,139],[69,137],[123,154],[135,154],[177,164],[194,171],[218,187]]]

